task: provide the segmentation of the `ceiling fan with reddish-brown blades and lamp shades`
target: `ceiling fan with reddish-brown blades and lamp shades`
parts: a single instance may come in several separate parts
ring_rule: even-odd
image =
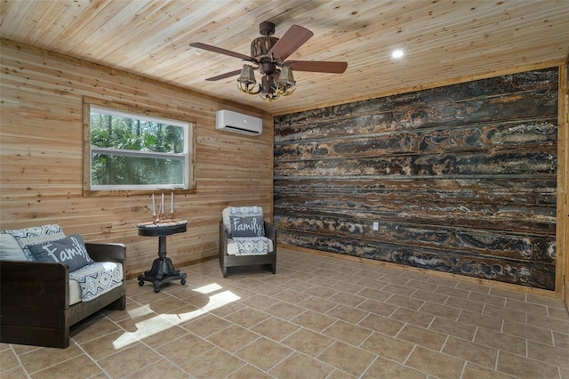
[[[252,40],[251,56],[239,52],[231,52],[211,44],[194,42],[189,44],[198,49],[217,52],[244,61],[243,69],[226,72],[205,80],[216,81],[233,77],[237,78],[237,87],[244,93],[259,94],[266,101],[275,100],[280,96],[287,96],[294,92],[296,82],[293,69],[296,71],[323,72],[341,74],[348,68],[347,62],[316,61],[316,60],[286,60],[302,44],[306,43],[314,34],[307,28],[293,25],[280,39],[275,34],[275,24],[269,21],[259,25],[260,37]],[[261,83],[257,85],[253,70],[260,71]]]

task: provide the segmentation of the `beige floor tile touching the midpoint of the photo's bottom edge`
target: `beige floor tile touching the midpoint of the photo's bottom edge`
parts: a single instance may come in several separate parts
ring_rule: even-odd
[[[325,363],[295,352],[292,356],[284,359],[270,371],[270,375],[276,378],[326,378],[333,371],[333,367]]]

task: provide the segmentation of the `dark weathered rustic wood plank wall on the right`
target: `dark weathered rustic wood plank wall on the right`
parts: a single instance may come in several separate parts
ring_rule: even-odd
[[[557,80],[556,67],[276,117],[279,242],[555,290]]]

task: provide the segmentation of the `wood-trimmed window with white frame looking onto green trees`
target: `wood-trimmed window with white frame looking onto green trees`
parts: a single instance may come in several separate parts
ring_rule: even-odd
[[[192,125],[121,108],[85,103],[89,125],[85,189],[190,189]]]

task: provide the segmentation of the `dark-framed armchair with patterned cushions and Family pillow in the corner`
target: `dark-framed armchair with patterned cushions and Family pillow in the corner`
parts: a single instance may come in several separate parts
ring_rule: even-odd
[[[220,268],[268,265],[276,273],[276,228],[263,220],[259,206],[227,207],[220,222]]]

